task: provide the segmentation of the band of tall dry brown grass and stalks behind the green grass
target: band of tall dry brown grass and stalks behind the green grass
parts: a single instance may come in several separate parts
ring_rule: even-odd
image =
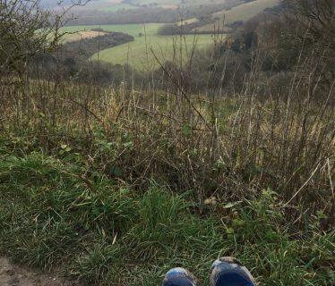
[[[193,189],[200,201],[214,195],[227,202],[270,187],[298,224],[301,211],[331,214],[334,102],[293,95],[264,101],[250,92],[213,100],[179,88],[141,92],[45,80],[28,89],[2,85],[2,130],[32,136],[50,152],[64,142],[75,150],[77,136],[103,134],[103,144],[118,146],[113,156],[95,148],[78,152],[88,152],[109,175],[117,166],[121,179],[140,189],[155,179],[170,189]]]

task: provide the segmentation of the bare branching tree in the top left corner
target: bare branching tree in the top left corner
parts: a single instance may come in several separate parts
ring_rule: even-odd
[[[64,15],[88,1],[73,0],[58,13],[41,8],[40,2],[0,0],[0,74],[21,75],[30,57],[54,51],[65,34],[60,30]]]

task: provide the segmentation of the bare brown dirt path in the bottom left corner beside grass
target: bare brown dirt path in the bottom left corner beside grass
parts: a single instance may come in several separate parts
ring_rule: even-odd
[[[1,286],[78,286],[76,282],[66,281],[55,273],[43,273],[28,267],[13,265],[8,259],[0,257]]]

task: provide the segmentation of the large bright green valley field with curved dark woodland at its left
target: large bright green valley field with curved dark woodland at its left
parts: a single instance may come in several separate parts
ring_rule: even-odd
[[[133,42],[100,51],[99,54],[93,55],[92,59],[99,59],[107,63],[129,63],[138,70],[150,70],[159,67],[155,55],[159,58],[160,62],[172,60],[174,55],[179,59],[180,53],[174,53],[174,50],[179,51],[180,46],[182,46],[183,58],[187,59],[188,55],[191,54],[194,41],[196,41],[197,48],[206,48],[212,42],[210,35],[199,35],[196,37],[186,35],[182,38],[182,45],[180,45],[179,36],[159,36],[157,34],[161,25],[150,23],[146,25],[73,26],[66,27],[64,30],[73,32],[82,29],[101,28],[132,35],[135,38]]]

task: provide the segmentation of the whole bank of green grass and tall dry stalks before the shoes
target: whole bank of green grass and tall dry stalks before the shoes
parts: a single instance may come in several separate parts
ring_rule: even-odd
[[[331,105],[2,87],[3,255],[101,285],[207,281],[219,256],[259,285],[334,282]]]

